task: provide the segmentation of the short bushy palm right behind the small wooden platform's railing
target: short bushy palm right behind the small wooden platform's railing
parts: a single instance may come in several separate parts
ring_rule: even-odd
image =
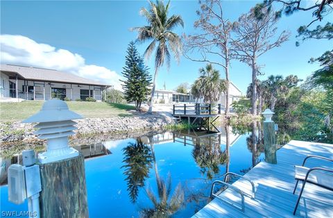
[[[212,64],[199,69],[200,77],[194,81],[191,87],[192,94],[196,98],[202,98],[203,101],[214,103],[218,101],[222,92],[227,90],[227,83],[220,78],[218,70],[214,69]]]

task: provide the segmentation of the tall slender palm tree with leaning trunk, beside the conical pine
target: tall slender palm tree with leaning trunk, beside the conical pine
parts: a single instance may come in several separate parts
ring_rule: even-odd
[[[148,113],[151,113],[153,110],[153,95],[155,92],[158,70],[163,66],[164,62],[167,62],[168,69],[170,66],[169,49],[171,49],[176,61],[179,62],[182,43],[180,37],[176,33],[173,33],[172,30],[179,25],[184,27],[184,22],[180,15],[172,15],[171,17],[168,17],[170,1],[168,1],[167,6],[164,6],[163,1],[159,0],[157,0],[156,3],[153,3],[153,1],[149,1],[149,3],[150,8],[148,10],[146,8],[140,10],[141,15],[146,17],[148,25],[135,27],[133,30],[138,32],[137,40],[139,42],[153,40],[146,48],[146,51],[144,51],[144,56],[146,58],[151,56],[151,53],[153,53],[157,44],[151,104],[148,110]]]

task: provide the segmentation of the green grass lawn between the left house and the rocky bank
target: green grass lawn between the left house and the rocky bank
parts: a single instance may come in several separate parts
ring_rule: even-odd
[[[1,121],[22,121],[35,114],[42,108],[44,101],[22,101],[20,103],[0,103]],[[132,116],[129,110],[134,106],[119,103],[68,101],[69,110],[73,110],[83,117],[115,117]]]

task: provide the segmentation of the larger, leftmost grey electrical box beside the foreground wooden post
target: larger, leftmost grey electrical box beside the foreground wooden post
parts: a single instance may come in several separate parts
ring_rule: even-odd
[[[26,199],[26,181],[22,165],[8,167],[8,201],[21,204]]]

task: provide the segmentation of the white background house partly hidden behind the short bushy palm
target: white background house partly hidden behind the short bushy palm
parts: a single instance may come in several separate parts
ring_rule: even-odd
[[[241,90],[239,90],[234,83],[230,82],[229,104],[231,105],[233,101],[239,100],[241,96]],[[193,95],[191,95],[191,92],[189,92],[189,94],[183,94],[172,90],[155,90],[153,101],[155,103],[203,103],[203,99],[195,99]],[[226,106],[226,96],[224,93],[221,94],[217,103],[221,103],[222,107]]]

